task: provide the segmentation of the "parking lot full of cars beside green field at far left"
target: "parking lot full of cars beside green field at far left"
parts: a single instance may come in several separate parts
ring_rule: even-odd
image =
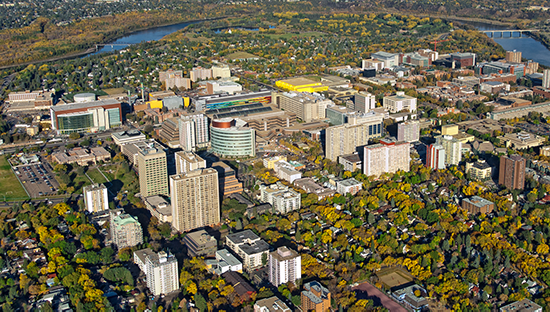
[[[59,184],[48,164],[34,163],[13,168],[31,198],[57,194]]]

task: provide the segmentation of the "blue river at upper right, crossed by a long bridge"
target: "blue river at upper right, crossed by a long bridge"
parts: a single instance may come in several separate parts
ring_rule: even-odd
[[[510,26],[492,25],[480,22],[464,22],[475,27],[477,30],[501,30],[510,29]],[[492,38],[496,43],[500,44],[506,51],[516,50],[521,51],[521,56],[528,60],[533,60],[539,64],[550,66],[550,51],[537,40],[523,35],[519,37],[518,33],[514,34],[513,38],[510,38],[509,33],[504,34],[504,38],[495,37]],[[500,35],[499,35],[500,36]]]

